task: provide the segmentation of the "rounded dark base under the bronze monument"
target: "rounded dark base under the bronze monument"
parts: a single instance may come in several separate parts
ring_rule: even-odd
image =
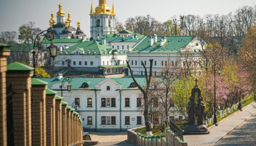
[[[206,125],[198,125],[198,124],[193,124],[193,125],[187,125],[184,128],[183,134],[209,134],[210,131],[208,131],[208,128]]]

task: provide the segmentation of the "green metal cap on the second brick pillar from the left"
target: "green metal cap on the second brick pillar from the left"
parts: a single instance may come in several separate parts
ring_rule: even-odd
[[[7,73],[33,73],[33,72],[34,72],[33,67],[30,67],[18,62],[14,62],[7,65]]]

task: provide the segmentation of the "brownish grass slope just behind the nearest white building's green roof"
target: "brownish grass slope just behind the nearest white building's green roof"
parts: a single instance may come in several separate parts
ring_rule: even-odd
[[[86,72],[86,71],[67,71],[64,74],[65,77],[83,77],[83,78],[104,78],[103,75],[99,74],[98,72]]]

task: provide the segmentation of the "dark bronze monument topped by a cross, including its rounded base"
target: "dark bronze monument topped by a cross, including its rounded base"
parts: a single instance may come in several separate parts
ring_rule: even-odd
[[[196,85],[191,90],[190,101],[188,102],[188,125],[184,128],[185,134],[209,134],[207,126],[204,125],[204,102],[201,97],[201,90]],[[195,102],[197,100],[197,103]],[[197,117],[197,124],[195,124],[195,117]]]

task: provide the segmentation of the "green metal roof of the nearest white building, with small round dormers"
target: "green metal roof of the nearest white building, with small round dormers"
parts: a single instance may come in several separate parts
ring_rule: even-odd
[[[134,88],[130,87],[130,84],[134,82],[132,78],[72,78],[70,84],[72,85],[72,90],[96,90],[95,85],[106,79],[111,79],[117,83],[122,84],[121,90],[134,90]],[[146,85],[145,78],[141,77],[135,79],[139,83],[139,85]],[[58,80],[57,78],[48,78],[40,80],[48,82],[48,88],[51,88],[55,83],[62,83],[63,81],[63,79]],[[88,83],[89,87],[82,87],[83,83]],[[138,87],[136,87],[136,89],[138,89]]]

